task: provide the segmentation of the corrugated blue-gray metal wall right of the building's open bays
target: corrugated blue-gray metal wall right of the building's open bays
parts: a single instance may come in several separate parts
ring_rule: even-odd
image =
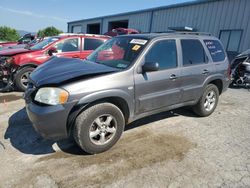
[[[239,51],[250,48],[250,0],[221,0],[153,13],[152,32],[190,26],[219,37],[220,30],[242,29]],[[245,40],[244,40],[245,39]]]

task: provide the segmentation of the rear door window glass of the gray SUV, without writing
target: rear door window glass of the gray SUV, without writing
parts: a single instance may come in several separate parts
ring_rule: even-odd
[[[183,66],[202,64],[206,62],[205,51],[199,40],[182,39],[181,48]]]

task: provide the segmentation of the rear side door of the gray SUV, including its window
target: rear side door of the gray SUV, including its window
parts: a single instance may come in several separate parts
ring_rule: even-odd
[[[203,92],[203,84],[214,72],[214,66],[206,55],[204,45],[198,39],[181,39],[182,102],[194,101]]]

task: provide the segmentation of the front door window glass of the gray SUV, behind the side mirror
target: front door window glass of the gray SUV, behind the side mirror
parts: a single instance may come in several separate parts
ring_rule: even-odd
[[[160,70],[177,67],[175,40],[156,42],[145,56],[145,62],[159,63]]]

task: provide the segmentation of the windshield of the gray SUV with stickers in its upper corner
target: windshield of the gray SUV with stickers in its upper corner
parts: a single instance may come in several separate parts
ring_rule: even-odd
[[[87,57],[87,60],[109,67],[126,69],[138,57],[147,40],[118,37],[105,42]]]

